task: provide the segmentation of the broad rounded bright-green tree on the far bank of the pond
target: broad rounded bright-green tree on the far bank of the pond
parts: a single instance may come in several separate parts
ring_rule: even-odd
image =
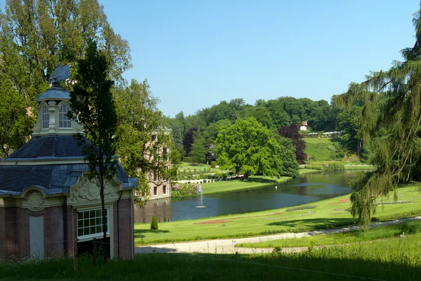
[[[233,125],[221,129],[215,145],[217,163],[222,170],[236,171],[245,175],[245,179],[257,171],[270,177],[288,175],[288,167],[281,159],[285,148],[253,117],[237,119]]]

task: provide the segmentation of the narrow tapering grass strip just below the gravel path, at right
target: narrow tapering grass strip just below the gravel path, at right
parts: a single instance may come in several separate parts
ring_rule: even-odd
[[[274,248],[274,247],[307,247],[320,245],[339,245],[355,242],[373,241],[377,239],[394,238],[405,235],[421,233],[421,222],[410,221],[384,227],[376,227],[367,231],[357,230],[346,233],[321,234],[311,237],[282,239],[258,243],[236,244],[238,247]],[[421,253],[420,253],[421,254]]]

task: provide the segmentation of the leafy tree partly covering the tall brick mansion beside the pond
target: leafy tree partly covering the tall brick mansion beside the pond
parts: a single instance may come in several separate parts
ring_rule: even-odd
[[[173,150],[173,140],[165,130],[165,119],[158,109],[159,99],[152,95],[146,79],[142,83],[133,79],[126,89],[117,89],[114,100],[118,117],[116,152],[128,175],[139,178],[135,203],[143,206],[149,194],[147,183],[151,177],[147,175],[172,180],[178,153]],[[172,160],[171,168],[168,158]],[[158,185],[163,182],[160,180]]]

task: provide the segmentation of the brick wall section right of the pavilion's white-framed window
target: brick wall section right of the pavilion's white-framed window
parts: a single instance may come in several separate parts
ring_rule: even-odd
[[[122,199],[119,202],[119,257],[121,259],[133,259],[133,200]],[[113,204],[113,228],[114,228],[114,259],[118,258],[117,237],[117,202]]]

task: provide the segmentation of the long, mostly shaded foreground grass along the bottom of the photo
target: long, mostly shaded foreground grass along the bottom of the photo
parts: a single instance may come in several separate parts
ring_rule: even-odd
[[[133,261],[97,267],[85,257],[76,273],[71,259],[0,266],[0,280],[419,280],[420,238],[311,248],[298,254],[141,254]]]

